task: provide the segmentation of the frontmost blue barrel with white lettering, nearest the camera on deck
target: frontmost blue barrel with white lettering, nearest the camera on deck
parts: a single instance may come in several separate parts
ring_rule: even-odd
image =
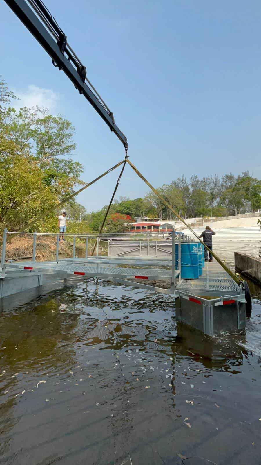
[[[196,242],[182,242],[181,244],[181,278],[198,279],[198,244]]]

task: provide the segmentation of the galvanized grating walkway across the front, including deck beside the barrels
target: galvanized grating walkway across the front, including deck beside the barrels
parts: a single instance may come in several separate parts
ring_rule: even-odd
[[[121,265],[121,266],[119,266]],[[123,266],[124,265],[124,266]],[[154,289],[157,292],[175,293],[189,292],[192,295],[223,296],[241,293],[239,286],[230,278],[221,266],[215,262],[205,263],[203,274],[199,279],[180,279],[180,271],[171,272],[171,259],[142,259],[140,257],[113,258],[88,257],[87,259],[61,259],[57,262],[17,262],[7,267],[47,273],[97,277],[113,280],[135,287]],[[178,278],[178,279],[177,279]],[[128,281],[130,279],[130,281]],[[131,280],[144,280],[144,284]],[[156,281],[153,286],[146,281]],[[170,287],[164,289],[157,281],[168,281]]]

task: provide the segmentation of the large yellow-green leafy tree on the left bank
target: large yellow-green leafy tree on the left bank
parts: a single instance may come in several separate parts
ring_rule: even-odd
[[[1,81],[1,103],[8,104],[12,97]],[[82,184],[83,168],[77,161],[60,158],[75,148],[70,121],[40,108],[16,112],[5,107],[0,116],[0,227],[17,230],[73,193],[74,186]],[[39,221],[36,228],[50,226],[55,215]]]

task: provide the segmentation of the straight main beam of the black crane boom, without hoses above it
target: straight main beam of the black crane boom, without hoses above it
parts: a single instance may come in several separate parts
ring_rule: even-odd
[[[41,23],[33,10],[29,7],[25,0],[5,0],[8,7],[13,10],[13,13],[22,21],[27,27],[28,31],[35,37],[39,44],[45,49],[50,55],[52,60],[58,65],[59,69],[62,69],[66,76],[72,81],[73,85],[78,89],[79,93],[82,93],[85,99],[90,102],[93,108],[109,126],[112,132],[114,132],[118,139],[123,143],[124,147],[128,147],[127,139],[124,134],[114,123],[113,116],[110,115],[87,86],[85,82],[81,80],[80,74],[77,69],[74,68],[68,58],[61,52],[59,45],[52,38],[52,35],[47,31],[46,27]]]

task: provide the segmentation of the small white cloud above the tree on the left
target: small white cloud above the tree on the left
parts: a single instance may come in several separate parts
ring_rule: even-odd
[[[59,96],[52,89],[42,89],[41,87],[30,85],[26,90],[14,90],[14,94],[20,98],[20,100],[13,100],[12,102],[16,110],[19,110],[23,106],[27,106],[28,108],[40,106],[48,108],[52,114],[58,111]]]

